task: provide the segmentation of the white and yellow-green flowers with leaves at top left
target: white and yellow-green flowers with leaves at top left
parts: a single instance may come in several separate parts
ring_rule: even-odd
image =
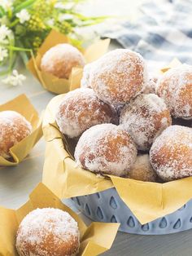
[[[1,0],[0,2],[0,75],[3,82],[20,85],[25,77],[15,70],[16,60],[24,64],[35,55],[52,29],[68,35],[81,47],[76,28],[96,24],[105,17],[86,17],[76,12],[82,0]]]

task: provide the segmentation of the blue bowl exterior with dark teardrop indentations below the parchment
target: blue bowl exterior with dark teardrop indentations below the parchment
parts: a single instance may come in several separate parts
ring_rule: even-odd
[[[181,209],[142,225],[120,199],[115,188],[72,198],[76,208],[97,222],[120,223],[120,231],[141,235],[163,235],[192,228],[192,200]]]

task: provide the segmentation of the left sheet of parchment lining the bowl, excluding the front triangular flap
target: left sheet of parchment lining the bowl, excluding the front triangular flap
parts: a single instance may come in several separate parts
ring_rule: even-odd
[[[63,95],[50,100],[43,120],[46,143],[46,157],[43,168],[42,182],[46,184],[59,198],[83,196],[112,188],[110,179],[104,179],[88,170],[76,166],[71,152],[72,141],[67,143],[55,122],[55,113]],[[63,143],[65,141],[65,143]],[[74,146],[76,142],[74,142]]]

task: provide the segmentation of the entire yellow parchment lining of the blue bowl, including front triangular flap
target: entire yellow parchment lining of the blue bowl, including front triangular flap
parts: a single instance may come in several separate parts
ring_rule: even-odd
[[[179,60],[173,60],[167,70],[180,64]],[[162,69],[166,72],[165,68]],[[47,141],[43,183],[60,198],[83,196],[115,187],[142,224],[171,214],[192,198],[192,177],[168,183],[149,183],[116,176],[103,179],[77,167],[72,157],[76,141],[64,138],[55,122],[55,112],[62,99],[63,95],[59,95],[50,101],[43,121]]]

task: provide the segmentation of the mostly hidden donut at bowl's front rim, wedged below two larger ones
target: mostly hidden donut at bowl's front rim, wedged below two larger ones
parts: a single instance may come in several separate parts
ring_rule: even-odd
[[[147,182],[158,181],[158,176],[151,166],[148,154],[137,156],[133,168],[129,170],[128,178]]]

